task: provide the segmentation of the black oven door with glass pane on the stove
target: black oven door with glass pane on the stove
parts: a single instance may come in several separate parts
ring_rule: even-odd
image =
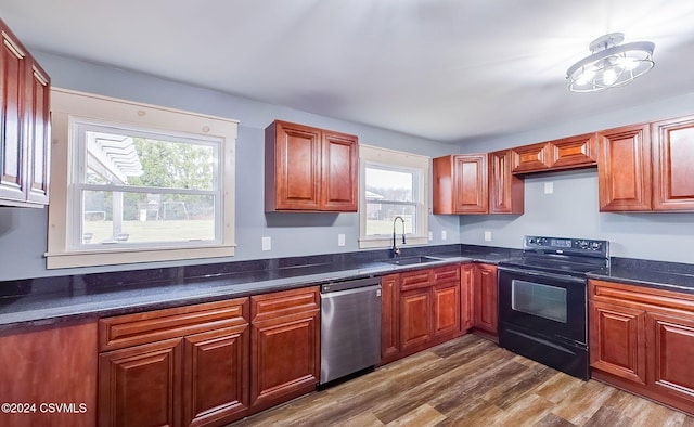
[[[499,323],[549,339],[586,346],[587,281],[499,268]]]

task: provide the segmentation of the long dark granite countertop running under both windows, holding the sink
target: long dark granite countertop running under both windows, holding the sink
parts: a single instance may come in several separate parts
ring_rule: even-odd
[[[387,253],[378,253],[387,254]],[[413,254],[403,254],[409,257]],[[381,261],[339,259],[339,262],[292,264],[270,262],[269,268],[250,271],[224,271],[187,276],[176,268],[162,271],[101,273],[105,277],[65,276],[41,280],[0,282],[0,331],[20,325],[43,325],[68,320],[126,314],[138,311],[246,297],[269,292],[321,285],[334,281],[380,276],[413,269],[433,268],[453,262],[498,262],[501,255],[463,256],[460,250],[429,253],[438,260],[410,266]],[[320,258],[314,257],[314,258]],[[325,257],[322,257],[325,258]],[[363,256],[362,256],[363,258]],[[319,261],[332,260],[318,259]],[[316,260],[313,260],[316,261]],[[252,267],[255,268],[255,267]],[[183,268],[181,268],[183,269]],[[233,270],[229,267],[227,269]],[[202,267],[201,271],[205,271]],[[138,279],[121,280],[126,274]],[[193,273],[191,273],[193,274]],[[162,277],[164,276],[164,277]],[[125,282],[125,283],[124,283]]]

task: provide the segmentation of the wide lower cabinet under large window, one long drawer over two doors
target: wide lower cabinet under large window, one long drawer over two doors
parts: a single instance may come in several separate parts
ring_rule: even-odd
[[[248,298],[99,321],[100,426],[218,426],[249,413]]]

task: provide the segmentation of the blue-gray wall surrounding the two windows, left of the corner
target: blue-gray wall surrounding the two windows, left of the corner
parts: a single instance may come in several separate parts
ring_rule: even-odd
[[[282,106],[232,96],[156,77],[35,52],[55,87],[163,105],[241,121],[236,141],[236,256],[209,260],[142,263],[118,267],[46,270],[47,209],[0,208],[0,280],[48,275],[223,262],[358,250],[357,214],[265,214],[264,129],[275,118],[357,134],[362,144],[432,157],[454,153],[453,145],[340,121]],[[429,217],[432,244],[460,243],[457,217]],[[441,231],[447,240],[441,241]],[[337,246],[337,234],[346,246]],[[261,237],[272,250],[261,251]]]

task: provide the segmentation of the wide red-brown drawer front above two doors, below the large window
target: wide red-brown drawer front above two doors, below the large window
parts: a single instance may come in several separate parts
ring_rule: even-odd
[[[182,337],[248,322],[248,298],[99,320],[99,351]]]

